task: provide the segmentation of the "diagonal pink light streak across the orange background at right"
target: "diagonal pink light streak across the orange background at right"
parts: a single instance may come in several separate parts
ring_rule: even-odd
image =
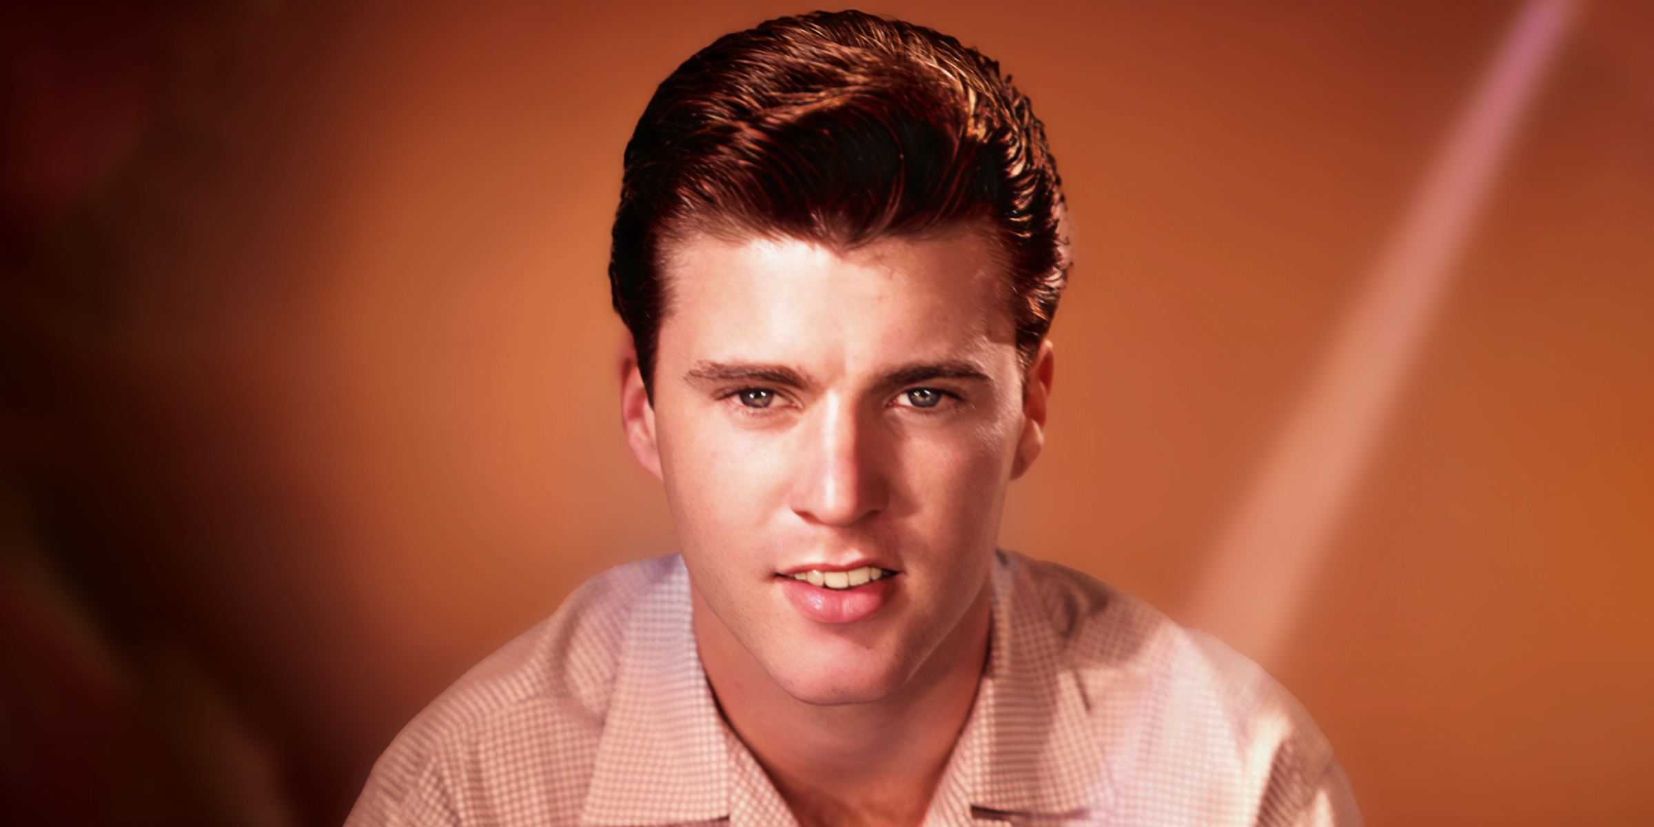
[[[1517,12],[1196,586],[1189,620],[1262,663],[1292,629],[1578,7]]]

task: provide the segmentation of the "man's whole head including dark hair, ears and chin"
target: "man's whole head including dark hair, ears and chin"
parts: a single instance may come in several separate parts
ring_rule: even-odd
[[[668,78],[625,164],[622,409],[703,660],[857,703],[979,647],[1067,268],[1027,99],[925,28],[776,20]]]

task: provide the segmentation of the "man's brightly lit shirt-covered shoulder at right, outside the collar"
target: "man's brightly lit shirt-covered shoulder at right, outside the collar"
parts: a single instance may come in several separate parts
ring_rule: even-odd
[[[1083,572],[1017,554],[1002,566],[1014,617],[1039,627],[1021,637],[1044,638],[1078,693],[1121,815],[1163,814],[1183,789],[1171,797],[1204,801],[1204,824],[1232,812],[1297,824],[1312,810],[1360,824],[1327,738],[1257,663]]]

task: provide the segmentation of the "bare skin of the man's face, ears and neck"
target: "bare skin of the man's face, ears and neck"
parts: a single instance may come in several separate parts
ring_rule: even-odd
[[[805,827],[920,824],[976,696],[1006,488],[1044,445],[979,228],[853,250],[690,235],[670,250],[655,399],[622,420],[662,478],[724,718]],[[875,566],[849,590],[799,571]]]

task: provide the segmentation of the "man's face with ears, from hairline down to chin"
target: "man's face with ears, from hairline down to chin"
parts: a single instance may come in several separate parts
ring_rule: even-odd
[[[964,227],[849,251],[695,235],[663,275],[653,405],[630,380],[627,423],[696,612],[794,698],[892,695],[986,612],[1039,453],[1049,347],[1024,394],[1001,258]]]

